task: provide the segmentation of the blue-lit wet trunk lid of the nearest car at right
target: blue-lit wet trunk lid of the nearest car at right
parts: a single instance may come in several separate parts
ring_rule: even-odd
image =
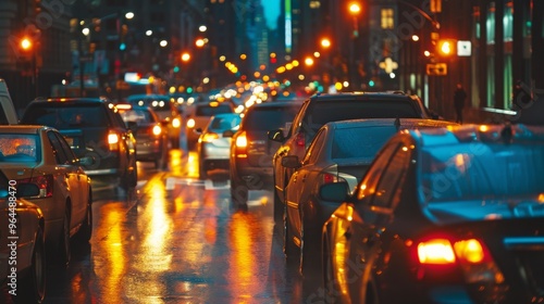
[[[504,200],[433,202],[425,206],[428,217],[436,224],[498,220],[514,218],[544,219],[544,194]]]

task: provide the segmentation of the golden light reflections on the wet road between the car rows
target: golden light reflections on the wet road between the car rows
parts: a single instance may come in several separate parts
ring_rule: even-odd
[[[193,155],[172,152],[169,172],[140,164],[128,198],[96,193],[90,248],[49,268],[46,303],[319,303],[286,265],[271,192],[235,211],[227,180],[198,180]]]

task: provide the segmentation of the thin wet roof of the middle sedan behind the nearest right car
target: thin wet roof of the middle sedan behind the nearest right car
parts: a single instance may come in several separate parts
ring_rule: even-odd
[[[401,129],[438,128],[448,126],[459,126],[459,124],[448,121],[436,121],[428,118],[361,118],[330,122],[326,125],[336,128],[353,128],[354,126],[361,127],[382,127],[382,126],[398,126]]]

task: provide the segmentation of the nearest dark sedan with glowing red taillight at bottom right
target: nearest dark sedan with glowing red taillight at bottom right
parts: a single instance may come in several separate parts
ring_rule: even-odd
[[[405,130],[325,223],[325,294],[337,302],[537,303],[544,256],[544,129]]]

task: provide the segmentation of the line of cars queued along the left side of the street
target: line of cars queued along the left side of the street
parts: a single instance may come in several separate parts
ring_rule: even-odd
[[[1,79],[0,101],[0,302],[40,303],[47,265],[65,267],[71,244],[88,245],[92,189],[129,190],[136,161],[163,165],[181,121],[103,98],[38,98],[18,119]]]

